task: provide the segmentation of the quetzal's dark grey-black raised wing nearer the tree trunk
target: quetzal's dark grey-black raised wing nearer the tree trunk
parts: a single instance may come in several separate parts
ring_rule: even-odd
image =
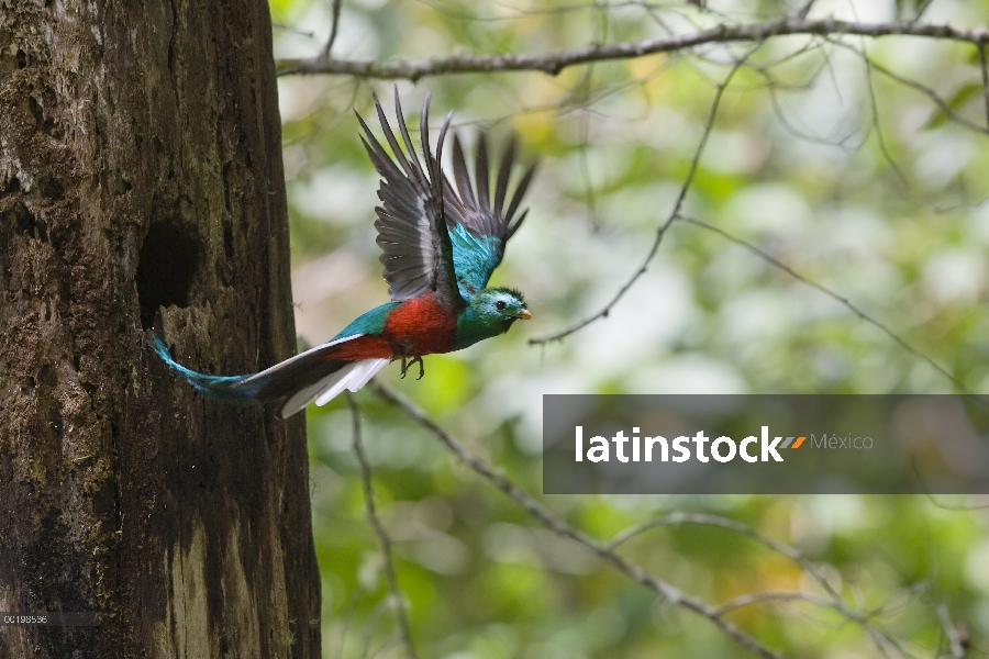
[[[381,264],[385,280],[392,300],[401,301],[433,292],[446,309],[457,312],[464,308],[464,300],[457,292],[454,271],[453,246],[446,228],[440,155],[443,141],[449,127],[452,113],[446,116],[436,141],[436,156],[430,150],[429,136],[430,94],[426,92],[420,118],[420,134],[425,167],[412,146],[405,119],[395,96],[395,114],[402,135],[405,150],[399,146],[381,103],[375,97],[375,108],[385,138],[393,156],[381,146],[360,115],[357,115],[365,135],[364,147],[370,156],[375,169],[381,175],[378,198],[381,205],[375,209],[378,220],[378,245],[381,247]]]

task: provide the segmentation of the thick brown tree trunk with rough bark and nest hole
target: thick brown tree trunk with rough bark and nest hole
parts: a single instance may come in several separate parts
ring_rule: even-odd
[[[265,0],[0,0],[0,657],[315,657],[301,415],[207,401],[146,346],[257,370],[295,331]]]

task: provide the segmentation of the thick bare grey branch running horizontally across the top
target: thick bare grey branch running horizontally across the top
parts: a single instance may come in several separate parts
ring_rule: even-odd
[[[545,55],[452,55],[434,59],[413,60],[352,60],[331,59],[318,55],[304,59],[278,62],[278,75],[329,74],[381,78],[386,80],[418,80],[426,76],[448,74],[486,74],[492,71],[542,71],[557,75],[567,67],[592,62],[635,59],[657,53],[684,51],[704,44],[735,42],[762,43],[784,35],[858,35],[880,37],[890,35],[919,36],[960,41],[981,46],[989,42],[989,30],[956,27],[954,25],[925,25],[915,22],[858,23],[835,20],[807,21],[799,15],[776,21],[749,24],[722,23],[710,30],[676,34],[615,44],[590,44],[570,51]]]

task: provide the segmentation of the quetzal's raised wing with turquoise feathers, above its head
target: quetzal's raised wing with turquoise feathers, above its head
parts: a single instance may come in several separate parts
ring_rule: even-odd
[[[522,175],[515,191],[504,206],[509,179],[515,160],[515,139],[512,138],[501,157],[494,183],[494,199],[489,188],[488,142],[481,134],[477,144],[474,165],[475,182],[470,181],[460,141],[454,135],[453,168],[456,190],[444,177],[443,200],[446,223],[453,244],[453,263],[460,295],[473,297],[488,284],[491,272],[501,263],[504,245],[518,231],[529,211],[523,211],[513,222],[522,197],[532,181],[536,164]]]

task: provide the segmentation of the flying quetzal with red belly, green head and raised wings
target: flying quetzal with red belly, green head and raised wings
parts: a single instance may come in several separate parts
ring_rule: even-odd
[[[454,135],[454,187],[440,165],[453,113],[440,129],[434,156],[429,103],[426,93],[420,118],[422,158],[412,146],[397,93],[395,112],[404,152],[377,97],[378,120],[393,156],[357,115],[365,133],[362,142],[381,176],[375,227],[391,302],[359,316],[330,342],[258,373],[208,376],[190,370],[176,362],[164,342],[153,335],[152,347],[162,359],[207,394],[226,400],[284,400],[281,415],[289,416],[310,401],[322,405],[344,389],[357,391],[392,360],[401,359],[403,377],[410,365],[419,362],[422,378],[423,355],[466,348],[503,334],[520,319],[532,317],[522,293],[487,284],[501,263],[505,243],[527,213],[513,222],[535,163],[519,180],[505,208],[515,141],[509,142],[502,155],[492,200],[485,136],[481,134],[477,144],[471,182],[464,150]]]

